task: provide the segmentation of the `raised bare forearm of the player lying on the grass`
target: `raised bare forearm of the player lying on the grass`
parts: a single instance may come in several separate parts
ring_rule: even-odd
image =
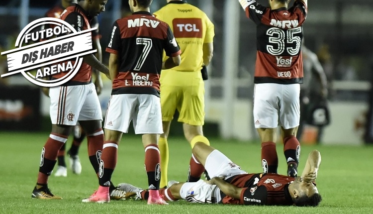
[[[314,182],[317,178],[317,171],[321,164],[320,152],[316,149],[308,154],[306,165],[303,169],[302,178],[304,182]]]

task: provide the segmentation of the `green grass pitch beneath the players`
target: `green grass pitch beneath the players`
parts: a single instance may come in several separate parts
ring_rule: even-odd
[[[145,201],[111,201],[108,204],[86,204],[98,187],[98,181],[87,155],[84,141],[80,151],[83,171],[68,177],[50,176],[49,188],[63,200],[31,199],[35,186],[41,148],[48,133],[0,132],[0,213],[1,214],[372,214],[373,213],[373,147],[304,145],[299,173],[309,151],[318,149],[322,156],[317,187],[323,201],[317,208],[280,206],[199,205],[174,202],[169,206],[148,206]],[[69,138],[67,148],[72,139]],[[211,145],[225,153],[249,173],[261,172],[260,144],[257,142],[210,139]],[[190,147],[181,137],[169,138],[169,180],[185,181]],[[278,145],[279,173],[286,173],[282,145]],[[68,158],[66,158],[69,164]],[[114,184],[126,182],[146,188],[144,149],[141,136],[123,135],[119,144]]]

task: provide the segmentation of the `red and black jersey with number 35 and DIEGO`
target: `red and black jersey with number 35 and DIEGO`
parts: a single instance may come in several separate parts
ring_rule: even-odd
[[[246,16],[257,25],[257,59],[254,83],[303,82],[301,42],[307,6],[295,1],[287,9],[271,10],[255,0],[240,0]]]

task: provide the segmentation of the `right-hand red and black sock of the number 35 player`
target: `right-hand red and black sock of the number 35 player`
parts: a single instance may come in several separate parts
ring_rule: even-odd
[[[300,144],[295,136],[285,137],[283,139],[283,154],[285,155],[287,164],[299,164]]]

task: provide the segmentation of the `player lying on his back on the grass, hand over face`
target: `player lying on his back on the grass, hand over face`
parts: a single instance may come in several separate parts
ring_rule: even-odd
[[[212,179],[169,185],[168,189],[160,190],[166,201],[184,199],[191,203],[206,204],[313,207],[321,201],[313,183],[321,163],[320,152],[317,150],[309,153],[303,173],[297,178],[273,173],[248,174],[223,153],[200,142],[195,144],[193,155]],[[127,193],[136,193],[136,199],[147,200],[149,196],[147,190],[130,184],[122,183],[118,188]]]

